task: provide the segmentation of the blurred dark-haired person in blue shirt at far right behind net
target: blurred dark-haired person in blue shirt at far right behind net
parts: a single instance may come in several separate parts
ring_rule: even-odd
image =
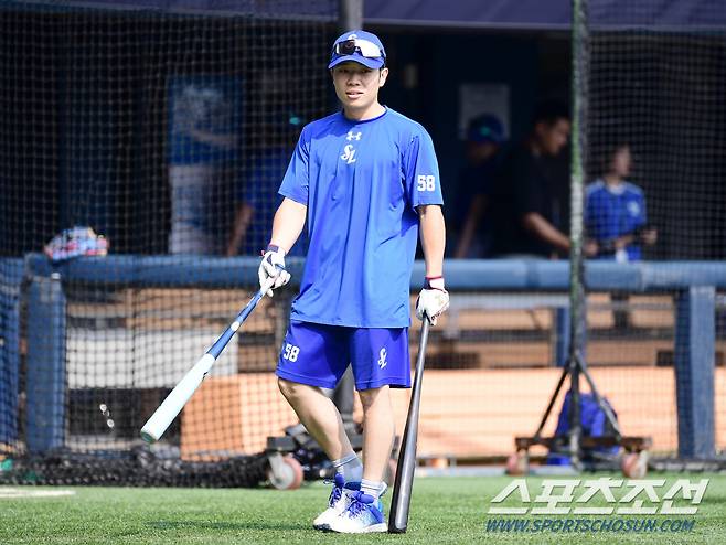
[[[642,259],[641,244],[655,244],[658,232],[648,227],[643,191],[626,180],[632,163],[630,146],[619,143],[606,157],[605,173],[586,189],[586,254],[638,261]]]

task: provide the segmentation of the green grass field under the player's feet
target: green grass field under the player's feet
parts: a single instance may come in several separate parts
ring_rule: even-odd
[[[592,478],[591,474],[581,477],[584,480]],[[71,490],[75,493],[57,498],[11,499],[2,498],[8,494],[3,494],[3,488],[0,488],[0,544],[726,543],[726,475],[649,475],[649,479],[666,479],[665,488],[677,478],[711,479],[698,513],[681,516],[695,520],[690,532],[488,532],[487,522],[494,519],[487,513],[490,501],[512,481],[509,477],[419,478],[415,483],[408,532],[361,536],[312,530],[311,520],[328,498],[328,487],[322,483],[308,484],[297,491],[20,487],[22,492]],[[540,492],[541,481],[538,478],[527,479],[532,500]],[[588,506],[604,504],[605,501],[600,500],[587,503]],[[686,504],[683,500],[676,502],[681,506]],[[523,504],[519,496],[510,496],[504,505]],[[547,516],[556,520],[566,515]],[[645,516],[659,521],[666,519],[665,515]],[[531,522],[545,517],[526,516]]]

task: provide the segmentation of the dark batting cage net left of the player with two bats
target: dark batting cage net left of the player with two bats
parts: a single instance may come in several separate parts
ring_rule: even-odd
[[[270,405],[284,301],[227,346],[204,417],[188,407],[194,424],[153,450],[139,429],[256,289],[188,266],[267,245],[299,131],[331,106],[338,2],[134,4],[0,4],[0,480],[257,483],[250,423],[295,424]],[[51,269],[28,276],[23,256],[43,250]],[[105,254],[119,260],[63,269]],[[166,255],[170,276],[145,284],[122,257],[141,255]],[[233,440],[200,441],[215,421]]]

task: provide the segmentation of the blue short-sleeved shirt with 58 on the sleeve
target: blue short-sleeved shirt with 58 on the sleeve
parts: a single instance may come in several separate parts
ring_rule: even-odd
[[[416,206],[442,204],[426,130],[386,108],[306,126],[279,190],[308,207],[308,257],[291,319],[407,328]]]

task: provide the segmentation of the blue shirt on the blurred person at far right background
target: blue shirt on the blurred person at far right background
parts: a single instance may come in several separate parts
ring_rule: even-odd
[[[645,222],[645,197],[638,185],[623,182],[608,188],[602,180],[597,180],[587,186],[585,225],[595,241],[612,241],[631,234]],[[638,244],[628,245],[626,250],[630,261],[642,258]]]

